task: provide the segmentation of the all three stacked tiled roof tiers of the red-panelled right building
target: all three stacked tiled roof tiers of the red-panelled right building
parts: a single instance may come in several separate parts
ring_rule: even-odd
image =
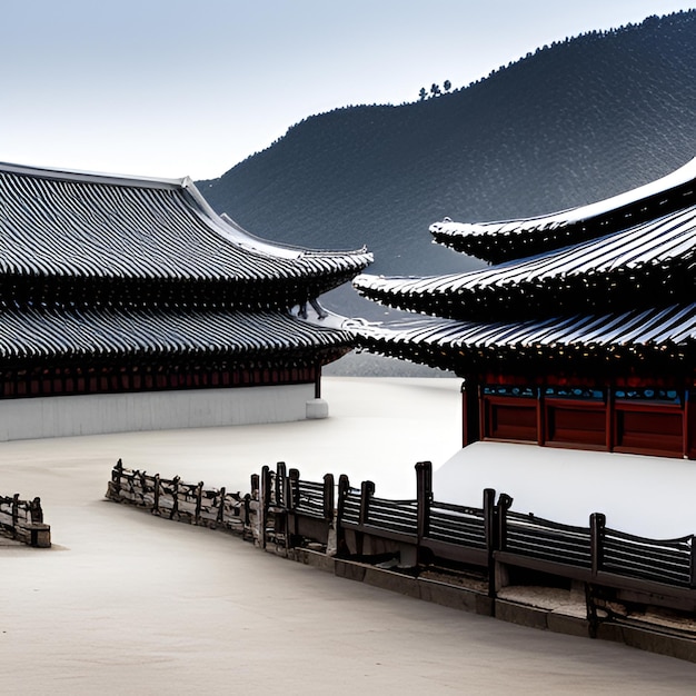
[[[507,223],[438,225],[458,240],[453,246],[474,240],[494,250],[490,258],[544,251],[466,274],[358,276],[354,285],[365,297],[436,317],[356,325],[359,344],[458,374],[519,367],[545,375],[555,361],[561,371],[596,377],[647,369],[692,379],[695,178],[696,159],[654,185],[583,209]]]

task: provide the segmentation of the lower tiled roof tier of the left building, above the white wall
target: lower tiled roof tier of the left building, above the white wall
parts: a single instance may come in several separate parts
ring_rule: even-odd
[[[351,346],[346,331],[276,311],[0,307],[0,365],[122,364],[310,355]]]

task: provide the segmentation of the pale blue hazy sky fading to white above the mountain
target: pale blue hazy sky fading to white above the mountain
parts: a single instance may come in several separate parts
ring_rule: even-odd
[[[0,161],[222,175],[314,113],[415,101],[678,0],[0,0]]]

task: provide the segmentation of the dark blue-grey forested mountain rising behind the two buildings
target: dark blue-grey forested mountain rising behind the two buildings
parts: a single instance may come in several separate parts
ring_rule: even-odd
[[[367,245],[370,272],[471,270],[481,262],[430,242],[431,222],[589,203],[696,156],[694,48],[696,10],[586,32],[440,97],[309,117],[199,187],[260,237]],[[329,301],[365,315],[351,291]]]

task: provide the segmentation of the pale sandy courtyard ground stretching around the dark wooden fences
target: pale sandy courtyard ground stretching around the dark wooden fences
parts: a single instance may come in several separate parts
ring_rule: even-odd
[[[459,380],[324,385],[327,420],[0,444],[0,491],[41,496],[53,540],[0,546],[0,689],[690,693],[690,663],[421,603],[103,500],[118,457],[242,491],[285,460],[306,478],[346,473],[411,497],[415,463],[438,467],[459,447]]]

